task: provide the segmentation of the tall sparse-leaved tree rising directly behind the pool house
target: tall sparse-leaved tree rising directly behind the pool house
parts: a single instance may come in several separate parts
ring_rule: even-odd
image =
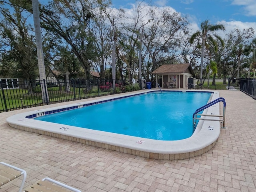
[[[180,48],[188,22],[170,8],[150,10],[151,22],[144,28],[143,43],[148,51],[148,58],[155,70],[161,63],[181,55]],[[179,51],[178,51],[179,50]]]

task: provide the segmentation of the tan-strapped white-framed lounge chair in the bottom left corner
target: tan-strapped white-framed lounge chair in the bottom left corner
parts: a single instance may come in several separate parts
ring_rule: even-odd
[[[23,180],[20,185],[19,192],[22,192],[22,188],[27,177],[26,171],[10,164],[0,162],[0,186],[3,186],[4,184],[18,178],[21,175],[23,175]]]

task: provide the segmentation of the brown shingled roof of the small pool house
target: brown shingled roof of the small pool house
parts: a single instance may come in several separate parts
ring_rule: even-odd
[[[190,63],[185,64],[165,64],[158,67],[151,74],[169,74],[169,73],[184,73],[189,69],[191,74],[194,75],[194,71]]]

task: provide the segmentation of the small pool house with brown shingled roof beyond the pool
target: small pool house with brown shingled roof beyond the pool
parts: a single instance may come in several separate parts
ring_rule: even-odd
[[[185,88],[188,84],[188,78],[194,76],[191,64],[166,64],[158,67],[151,74],[161,77],[162,87],[166,88],[166,82],[174,82],[177,88]],[[156,78],[158,83],[158,78]]]

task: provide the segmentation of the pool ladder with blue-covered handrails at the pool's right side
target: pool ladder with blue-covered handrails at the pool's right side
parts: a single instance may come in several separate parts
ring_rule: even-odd
[[[205,110],[206,108],[218,103],[218,102],[223,102],[223,115],[207,115],[207,114],[198,114],[199,112],[201,112],[202,110]],[[224,98],[220,97],[200,108],[198,108],[196,110],[196,112],[193,113],[193,125],[194,128],[196,127],[196,120],[209,120],[209,121],[221,121],[223,123],[222,128],[226,128],[225,127],[225,114],[226,114],[226,101]],[[211,116],[211,117],[222,117],[222,119],[206,119],[206,118],[199,118],[198,116]]]

